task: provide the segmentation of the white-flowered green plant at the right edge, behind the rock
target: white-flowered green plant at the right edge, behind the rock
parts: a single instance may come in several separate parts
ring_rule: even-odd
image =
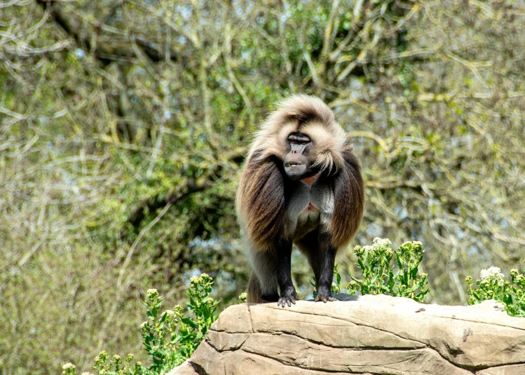
[[[467,276],[465,281],[469,285],[469,305],[495,299],[503,303],[508,315],[525,317],[525,274],[511,269],[510,281],[505,280],[499,267],[482,269],[481,280],[476,280],[477,289],[472,288],[472,276]]]

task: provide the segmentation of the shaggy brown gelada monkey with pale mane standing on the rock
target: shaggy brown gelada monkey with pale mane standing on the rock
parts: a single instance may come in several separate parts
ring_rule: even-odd
[[[269,114],[253,138],[235,199],[253,266],[248,302],[295,303],[292,244],[313,269],[315,301],[335,301],[335,255],[363,219],[360,169],[346,133],[321,99],[296,94]]]

